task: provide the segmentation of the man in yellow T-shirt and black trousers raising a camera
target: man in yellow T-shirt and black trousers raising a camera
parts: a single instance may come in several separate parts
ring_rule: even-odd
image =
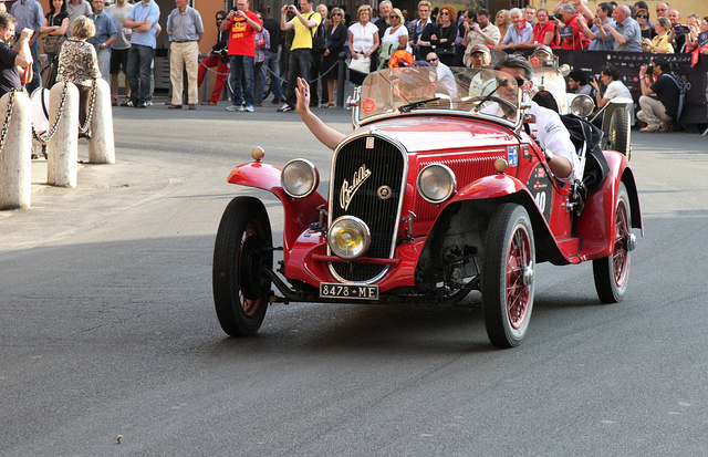
[[[322,17],[312,12],[312,0],[300,0],[302,12],[298,11],[293,4],[287,4],[280,10],[280,30],[295,30],[295,38],[292,40],[288,56],[288,100],[284,105],[278,108],[281,113],[295,110],[298,77],[302,77],[310,84],[310,70],[312,69],[311,29],[316,29],[322,22]],[[291,21],[288,21],[289,11],[295,14]]]

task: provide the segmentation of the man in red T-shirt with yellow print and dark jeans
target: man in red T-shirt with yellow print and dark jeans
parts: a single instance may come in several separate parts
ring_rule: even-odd
[[[233,90],[231,106],[226,111],[253,112],[253,60],[256,58],[254,37],[263,30],[258,15],[249,11],[247,0],[237,0],[236,9],[229,11],[226,21],[219,28],[222,32],[229,31],[229,84]],[[243,87],[241,80],[246,82]],[[246,100],[246,106],[243,101]]]

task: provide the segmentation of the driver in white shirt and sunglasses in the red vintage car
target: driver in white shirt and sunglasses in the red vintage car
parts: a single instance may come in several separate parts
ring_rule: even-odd
[[[528,60],[520,55],[508,55],[500,60],[494,66],[494,70],[508,73],[517,81],[516,83],[504,82],[500,85],[497,93],[500,97],[513,103],[518,103],[518,90],[529,93],[533,86],[531,79],[533,77],[533,67]],[[565,125],[561,122],[561,117],[552,110],[539,106],[535,102],[530,101],[530,108],[527,114],[534,116],[534,121],[529,123],[530,134],[539,145],[545,150],[545,158],[549,163],[551,172],[559,179],[571,183],[582,178],[582,170],[580,169],[580,157],[575,153],[575,146],[571,142],[571,135],[565,128]],[[489,108],[496,108],[498,112],[502,108],[502,105],[497,103],[483,112],[489,112]]]

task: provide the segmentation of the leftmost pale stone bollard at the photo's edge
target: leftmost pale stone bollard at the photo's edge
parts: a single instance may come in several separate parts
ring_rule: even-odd
[[[10,94],[0,98],[0,128]],[[15,92],[12,116],[0,150],[0,209],[29,209],[32,199],[32,106],[24,92]]]

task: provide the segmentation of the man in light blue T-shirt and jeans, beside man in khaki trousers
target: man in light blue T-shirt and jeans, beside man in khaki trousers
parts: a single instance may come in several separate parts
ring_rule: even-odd
[[[150,98],[150,66],[153,50],[157,45],[155,34],[159,20],[159,7],[153,0],[135,3],[123,27],[133,30],[128,51],[128,83],[131,100],[126,106],[144,108]]]

